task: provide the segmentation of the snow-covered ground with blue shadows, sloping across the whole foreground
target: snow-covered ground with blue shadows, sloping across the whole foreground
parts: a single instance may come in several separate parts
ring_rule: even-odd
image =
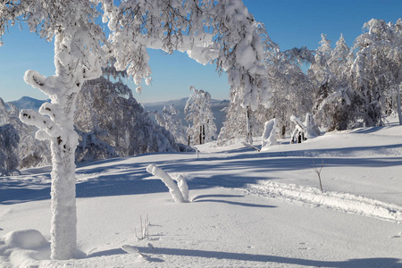
[[[46,260],[41,238],[33,249],[5,244],[13,230],[49,239],[50,167],[0,178],[0,267],[402,267],[402,127],[328,133],[261,153],[198,148],[199,158],[79,164],[81,253],[69,261]],[[182,174],[192,202],[174,203],[147,173],[150,163]],[[313,169],[322,164],[323,193]],[[140,218],[143,229],[150,222],[145,239]]]

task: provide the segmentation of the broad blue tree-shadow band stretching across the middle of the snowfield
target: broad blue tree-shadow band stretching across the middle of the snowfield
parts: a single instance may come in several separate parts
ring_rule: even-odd
[[[292,151],[285,153],[254,153],[245,149],[239,155],[222,154],[219,157],[203,157],[190,159],[172,159],[159,161],[138,162],[138,156],[115,158],[78,163],[77,197],[106,197],[119,195],[138,195],[168,192],[163,182],[158,179],[147,179],[147,165],[154,163],[166,172],[184,173],[189,175],[189,189],[197,188],[243,188],[247,184],[254,184],[258,180],[272,180],[270,172],[310,170],[316,163],[324,163],[326,167],[389,167],[402,165],[402,157],[306,157],[303,155],[323,155],[335,151],[363,151],[366,149],[392,149],[401,145],[386,147],[352,147],[348,149],[315,149],[306,151]],[[240,150],[241,151],[241,150]],[[152,156],[148,154],[147,156]],[[175,155],[175,154],[173,154]],[[206,173],[206,177],[203,172]],[[214,174],[210,176],[210,174]],[[29,176],[29,175],[24,175]],[[21,178],[23,178],[22,176]],[[47,173],[47,177],[50,175]],[[36,182],[29,180],[13,180],[5,178],[0,184],[0,204],[11,205],[21,202],[45,200],[50,198],[50,182]],[[15,177],[20,178],[20,177]],[[145,180],[147,179],[147,180]],[[1,179],[0,179],[1,180]],[[219,200],[202,200],[202,202],[222,202]]]

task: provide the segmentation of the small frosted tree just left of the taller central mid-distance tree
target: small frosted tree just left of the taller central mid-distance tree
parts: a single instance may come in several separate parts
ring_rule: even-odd
[[[155,113],[156,121],[160,126],[172,133],[176,142],[187,144],[187,130],[181,123],[179,117],[179,110],[174,105],[167,105],[163,107],[162,114]]]

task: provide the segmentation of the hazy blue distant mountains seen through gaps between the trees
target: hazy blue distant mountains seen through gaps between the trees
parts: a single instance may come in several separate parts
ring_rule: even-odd
[[[188,97],[176,99],[176,100],[170,100],[170,101],[165,101],[165,102],[156,102],[156,103],[147,103],[143,104],[144,107],[146,108],[147,111],[150,112],[155,112],[157,111],[158,113],[162,113],[163,107],[165,105],[174,105],[176,109],[179,110],[179,116],[181,120],[183,121],[184,125],[188,125],[188,122],[185,120],[185,114],[184,114],[184,107],[186,106]],[[38,100],[36,98],[32,98],[29,96],[22,96],[21,99],[12,101],[13,105],[17,106],[18,109],[33,109],[33,110],[39,110],[40,105],[42,105],[45,102],[50,102],[50,100]],[[222,128],[222,123],[225,118],[225,113],[222,112],[222,109],[227,107],[229,105],[229,100],[212,100],[212,111],[214,113],[215,117],[215,124],[216,127],[219,130]]]

